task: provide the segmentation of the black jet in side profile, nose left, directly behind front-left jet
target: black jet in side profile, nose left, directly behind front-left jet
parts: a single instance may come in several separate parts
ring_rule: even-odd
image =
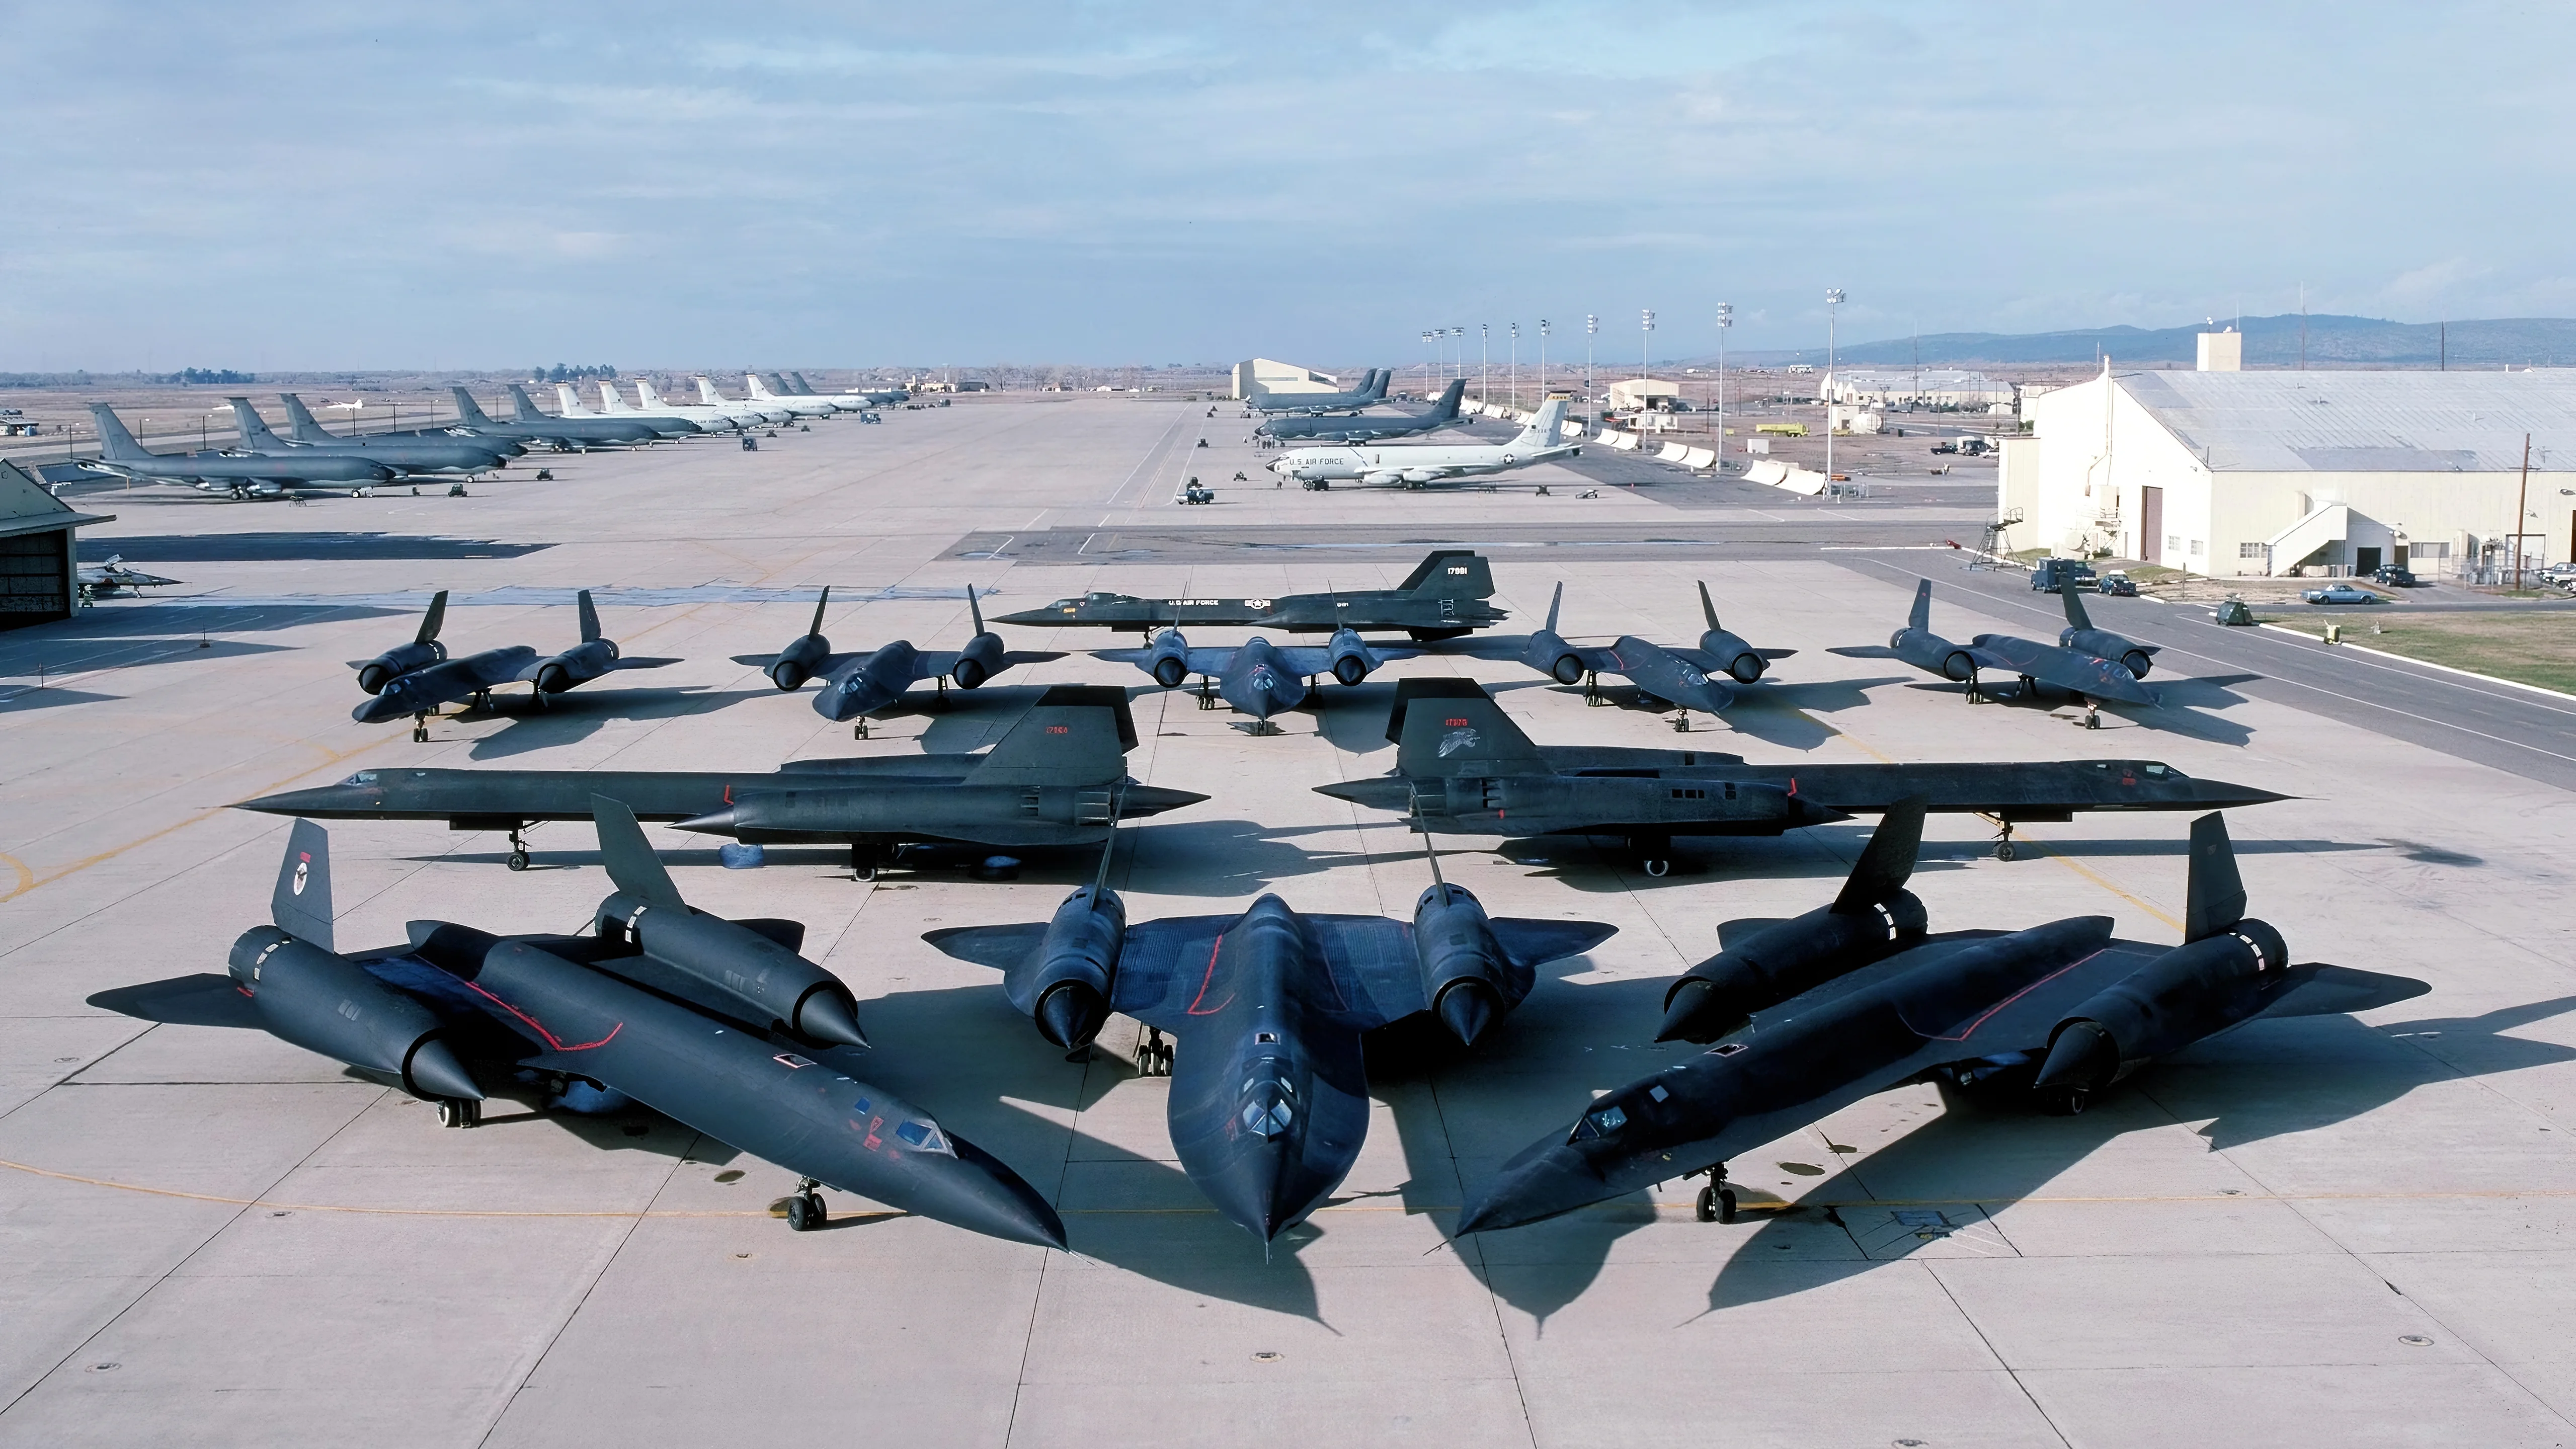
[[[507,830],[510,869],[528,869],[523,830],[590,820],[590,797],[641,820],[760,846],[850,846],[858,879],[899,864],[907,846],[1095,846],[1118,820],[1208,799],[1136,784],[1126,753],[1136,722],[1123,688],[1059,683],[971,755],[788,761],[775,771],[448,771],[374,768],[340,784],[245,799],[234,810],[309,820],[446,820],[448,830]]]

